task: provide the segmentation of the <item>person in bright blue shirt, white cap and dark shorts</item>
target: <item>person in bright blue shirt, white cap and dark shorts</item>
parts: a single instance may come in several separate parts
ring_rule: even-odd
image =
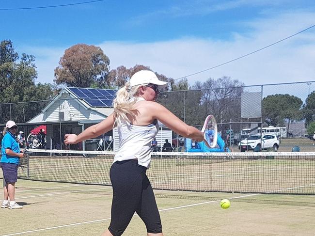
[[[18,205],[15,201],[15,184],[17,181],[17,168],[20,158],[23,153],[20,152],[20,147],[16,142],[16,123],[8,121],[3,130],[3,139],[1,147],[1,160],[0,165],[3,173],[3,195],[4,200],[1,208],[8,207],[9,209],[20,209],[23,206]],[[10,202],[9,202],[10,197]]]

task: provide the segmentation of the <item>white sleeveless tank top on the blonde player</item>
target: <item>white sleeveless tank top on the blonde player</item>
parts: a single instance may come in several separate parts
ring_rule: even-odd
[[[142,97],[137,102],[143,101]],[[148,126],[136,126],[122,121],[118,126],[119,151],[114,161],[138,159],[138,164],[149,169],[151,162],[151,141],[157,135],[158,122]]]

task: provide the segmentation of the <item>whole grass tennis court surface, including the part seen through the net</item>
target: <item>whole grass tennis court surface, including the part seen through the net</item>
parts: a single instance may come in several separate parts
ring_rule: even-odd
[[[16,184],[16,202],[23,209],[0,209],[1,218],[18,222],[17,227],[1,225],[0,236],[101,235],[110,224],[112,189],[107,185],[112,156],[33,155],[19,168],[20,176],[33,180],[19,179]],[[154,156],[147,174],[156,188],[164,235],[315,235],[314,157],[315,153]],[[257,193],[261,191],[273,194]],[[224,198],[231,200],[229,209],[220,207]],[[137,215],[123,235],[146,235]]]

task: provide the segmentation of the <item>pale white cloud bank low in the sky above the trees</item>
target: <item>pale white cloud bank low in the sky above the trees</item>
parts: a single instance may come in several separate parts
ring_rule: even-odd
[[[154,43],[103,42],[98,46],[109,56],[112,69],[120,65],[129,68],[143,64],[160,74],[177,79],[265,47],[311,26],[314,19],[314,13],[301,12],[244,22],[252,31],[235,33],[229,41],[180,38]],[[54,69],[68,47],[27,50],[36,57],[38,81],[52,82]],[[246,58],[188,79],[193,84],[195,80],[230,76],[246,85],[307,81],[315,79],[314,62],[315,28],[312,28]]]

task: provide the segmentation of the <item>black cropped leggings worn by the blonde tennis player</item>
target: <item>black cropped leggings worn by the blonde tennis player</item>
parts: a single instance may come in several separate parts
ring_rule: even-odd
[[[110,233],[120,236],[126,230],[133,214],[137,212],[148,233],[162,233],[161,219],[146,167],[138,160],[116,161],[110,168],[113,188]]]

